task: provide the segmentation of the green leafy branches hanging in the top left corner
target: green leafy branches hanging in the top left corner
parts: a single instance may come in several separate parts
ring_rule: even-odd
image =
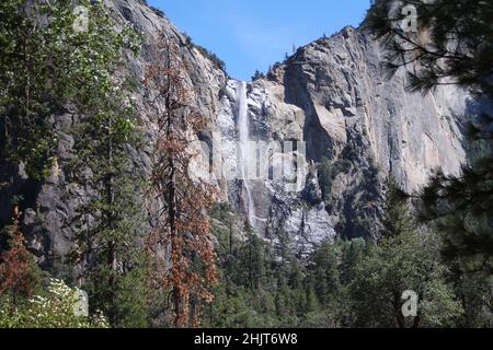
[[[108,91],[111,75],[102,65],[116,60],[123,45],[135,48],[129,28],[117,34],[99,25],[108,21],[102,4],[81,4],[89,9],[87,32],[73,30],[77,18],[68,0],[0,4],[0,155],[22,162],[35,179],[45,178],[55,161],[56,115],[70,101],[81,107]]]

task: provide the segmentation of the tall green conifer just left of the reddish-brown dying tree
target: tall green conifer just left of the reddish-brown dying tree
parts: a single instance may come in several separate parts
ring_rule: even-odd
[[[88,32],[80,34],[79,52],[92,63],[83,86],[73,92],[81,114],[73,129],[74,152],[65,165],[70,180],[89,188],[91,197],[77,208],[76,246],[71,262],[88,290],[91,308],[102,311],[114,327],[142,327],[148,322],[148,262],[142,246],[144,176],[130,152],[141,150],[131,89],[124,78],[124,50],[138,54],[139,37],[130,27],[115,30],[108,9],[89,7]],[[122,77],[122,75],[121,75]]]

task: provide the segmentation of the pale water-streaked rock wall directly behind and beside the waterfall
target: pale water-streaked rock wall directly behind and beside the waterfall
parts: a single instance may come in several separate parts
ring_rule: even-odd
[[[230,80],[221,101],[217,125],[222,140],[239,139],[239,84]],[[303,191],[310,173],[303,137],[305,112],[284,102],[283,84],[257,80],[249,83],[246,89],[249,140],[257,150],[259,170],[264,164],[266,171],[263,172],[264,176],[246,179],[239,176],[228,180],[229,201],[234,209],[245,213],[259,235],[276,241],[278,232],[283,230],[299,254],[309,253],[313,244],[333,238],[335,232],[322,200],[313,206]],[[233,143],[228,144],[221,148],[225,166],[240,167],[236,164],[238,156]],[[297,166],[295,175],[286,176],[285,167],[293,163]],[[311,182],[318,186],[316,176],[311,176]],[[253,200],[253,220],[248,198]]]

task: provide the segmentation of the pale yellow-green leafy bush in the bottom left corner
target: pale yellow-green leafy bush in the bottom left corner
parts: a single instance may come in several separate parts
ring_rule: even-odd
[[[50,279],[42,295],[21,305],[11,299],[0,301],[0,328],[107,328],[102,314],[94,317],[79,315],[78,290],[61,280]]]

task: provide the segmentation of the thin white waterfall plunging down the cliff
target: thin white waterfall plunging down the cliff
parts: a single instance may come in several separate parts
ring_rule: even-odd
[[[238,110],[238,165],[240,170],[240,176],[243,180],[243,187],[246,194],[245,207],[249,223],[252,228],[255,228],[255,206],[252,199],[252,192],[249,184],[249,170],[252,164],[256,164],[256,154],[250,152],[250,122],[249,122],[249,108],[246,104],[246,83],[244,81],[239,82],[237,92],[237,110]],[[255,162],[252,162],[255,161]],[[252,170],[250,170],[252,172]]]

